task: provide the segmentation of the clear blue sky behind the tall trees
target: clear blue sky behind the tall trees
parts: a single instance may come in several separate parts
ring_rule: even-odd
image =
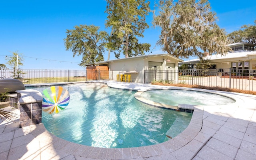
[[[154,0],[150,6],[153,9]],[[227,33],[240,29],[244,24],[254,24],[256,20],[255,0],[209,0],[212,11],[216,12],[220,28]],[[84,69],[78,66],[82,56],[73,58],[71,51],[66,51],[64,38],[66,30],[80,24],[94,24],[100,30],[105,28],[105,0],[2,0],[0,1],[0,64],[5,64],[5,57],[18,51],[23,54],[22,69]],[[160,29],[153,28],[152,14],[147,18],[150,25],[140,42],[151,44],[150,52],[159,54],[159,47],[154,49]],[[107,52],[104,54],[107,60]],[[123,58],[123,56],[121,57]],[[110,60],[115,59],[114,55]],[[61,61],[61,62],[60,62]]]

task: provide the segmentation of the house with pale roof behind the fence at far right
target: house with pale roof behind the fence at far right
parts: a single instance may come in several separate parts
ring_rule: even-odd
[[[232,52],[228,52],[226,55],[216,54],[207,55],[206,59],[211,64],[210,70],[217,70],[222,72],[224,69],[232,68],[232,72],[243,72],[243,70],[256,70],[256,45],[250,43],[233,43],[228,45]],[[189,64],[196,66],[200,63],[200,59],[188,60],[179,62],[181,64]],[[196,68],[196,67],[194,67]]]

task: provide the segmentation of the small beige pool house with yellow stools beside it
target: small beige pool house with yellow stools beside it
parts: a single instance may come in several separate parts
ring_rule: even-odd
[[[95,64],[88,65],[87,68],[92,66],[108,66],[108,71],[113,72],[110,75],[112,76],[110,79],[116,80],[116,75],[130,74],[132,82],[144,83],[145,79],[151,82],[155,77],[154,72],[152,74],[145,74],[145,71],[178,70],[178,63],[182,61],[180,58],[170,54],[154,54],[96,62]],[[171,76],[172,79],[178,80],[178,72],[172,74],[175,74]]]

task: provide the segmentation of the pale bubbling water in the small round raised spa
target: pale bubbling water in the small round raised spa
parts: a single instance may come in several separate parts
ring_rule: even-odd
[[[192,105],[226,105],[235,102],[234,99],[208,92],[193,90],[149,90],[141,94],[143,98],[154,102],[178,106],[178,104]]]

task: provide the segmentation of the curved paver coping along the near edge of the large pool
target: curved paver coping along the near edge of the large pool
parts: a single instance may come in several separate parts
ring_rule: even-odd
[[[190,124],[178,136],[160,144],[133,148],[98,148],[76,144],[54,136],[46,130],[43,124],[32,125],[30,126],[30,130],[32,135],[41,142],[40,144],[42,145],[41,148],[43,150],[51,145],[54,146],[56,152],[62,152],[65,150],[64,155],[72,154],[82,158],[118,160],[148,158],[152,156],[160,156],[165,153],[171,153],[193,143],[192,140],[198,135],[202,128],[202,112],[203,111],[200,107],[195,107]],[[44,133],[44,135],[42,135],[42,133]],[[53,142],[45,142],[46,139],[52,140]],[[58,150],[57,148],[61,145],[64,146]],[[202,146],[204,146],[203,143],[198,146],[197,150],[200,150]],[[74,151],[74,147],[77,148],[77,150]],[[196,152],[194,155],[196,155]]]

